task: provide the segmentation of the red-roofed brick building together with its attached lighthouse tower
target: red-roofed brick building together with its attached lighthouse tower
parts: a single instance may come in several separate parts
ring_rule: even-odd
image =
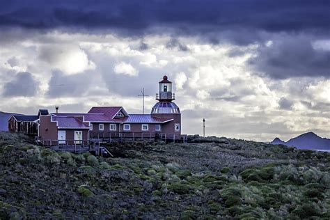
[[[129,114],[123,107],[92,107],[87,113],[50,113],[38,120],[38,136],[56,144],[116,139],[181,139],[181,113],[173,102],[172,82],[159,81],[158,102],[150,114]]]

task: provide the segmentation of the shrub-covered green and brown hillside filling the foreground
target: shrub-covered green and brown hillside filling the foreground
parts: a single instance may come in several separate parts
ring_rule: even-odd
[[[123,143],[113,158],[0,133],[0,219],[330,218],[330,154],[225,138]]]

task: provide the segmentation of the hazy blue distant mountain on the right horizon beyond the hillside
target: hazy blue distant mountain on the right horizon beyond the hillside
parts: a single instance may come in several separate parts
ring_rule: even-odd
[[[281,141],[281,139],[274,139],[271,144],[283,144],[286,146],[294,146],[299,149],[312,149],[312,150],[330,150],[330,139],[317,136],[313,132],[301,134],[289,141]]]

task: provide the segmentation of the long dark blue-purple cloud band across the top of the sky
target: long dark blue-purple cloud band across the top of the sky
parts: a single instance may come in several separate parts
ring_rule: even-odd
[[[31,29],[77,27],[122,29],[129,34],[150,27],[185,33],[223,29],[329,31],[327,0],[153,0],[0,1],[0,25]]]

